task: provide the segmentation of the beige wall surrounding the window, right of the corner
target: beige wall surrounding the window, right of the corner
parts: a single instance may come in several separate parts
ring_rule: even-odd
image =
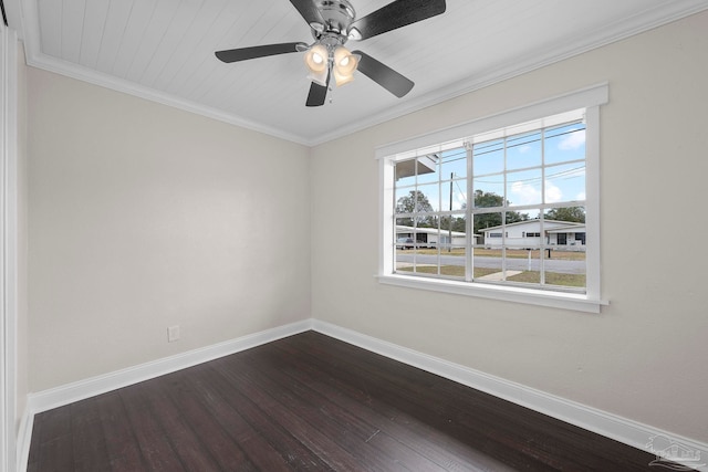
[[[317,146],[313,317],[708,441],[708,249],[666,244],[706,232],[706,31],[694,15]],[[602,314],[376,282],[376,146],[604,81]]]

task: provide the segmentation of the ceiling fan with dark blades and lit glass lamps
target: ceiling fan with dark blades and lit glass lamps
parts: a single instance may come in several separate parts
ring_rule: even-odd
[[[416,23],[445,12],[445,0],[395,0],[385,7],[356,18],[348,0],[290,0],[312,30],[314,42],[267,44],[217,51],[227,63],[269,55],[304,52],[309,78],[312,81],[306,106],[324,105],[332,78],[336,85],[353,80],[355,71],[403,97],[414,86],[413,81],[362,51],[350,52],[344,44]]]

